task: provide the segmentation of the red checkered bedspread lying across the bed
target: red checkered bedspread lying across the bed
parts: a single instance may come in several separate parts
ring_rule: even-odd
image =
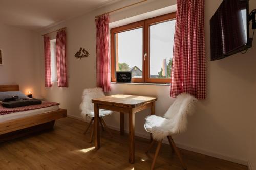
[[[41,108],[56,106],[56,105],[59,105],[59,103],[42,101],[42,104],[40,104],[40,105],[30,105],[30,106],[23,106],[23,107],[16,107],[16,108],[6,108],[0,104],[0,115],[28,111],[28,110],[41,109]]]

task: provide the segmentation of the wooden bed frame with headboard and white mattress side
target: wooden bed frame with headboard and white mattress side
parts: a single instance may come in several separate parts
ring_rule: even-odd
[[[0,85],[0,91],[19,91],[18,85]],[[53,129],[55,120],[67,117],[67,110],[50,106],[0,115],[0,141]]]

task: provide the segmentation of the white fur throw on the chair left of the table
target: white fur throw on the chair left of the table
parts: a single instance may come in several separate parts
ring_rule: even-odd
[[[92,99],[102,98],[105,94],[102,88],[88,88],[83,90],[82,103],[80,104],[81,116],[86,120],[86,116],[94,117],[94,104]],[[105,116],[111,114],[112,111],[99,109],[99,116]]]

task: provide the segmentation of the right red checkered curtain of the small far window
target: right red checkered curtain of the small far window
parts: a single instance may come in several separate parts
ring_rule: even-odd
[[[56,59],[58,87],[68,87],[66,67],[66,32],[59,30],[56,36]]]

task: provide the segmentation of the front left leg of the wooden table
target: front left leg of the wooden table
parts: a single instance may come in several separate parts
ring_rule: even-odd
[[[95,142],[95,149],[99,149],[100,148],[99,107],[97,103],[94,103],[94,142]]]

